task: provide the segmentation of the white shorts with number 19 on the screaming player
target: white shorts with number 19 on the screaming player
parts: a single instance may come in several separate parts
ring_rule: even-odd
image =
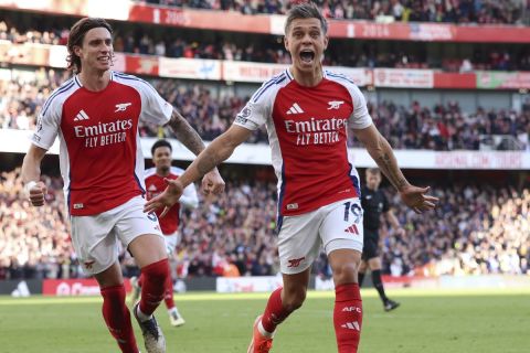
[[[308,269],[320,246],[326,255],[337,249],[362,253],[362,207],[359,199],[347,199],[297,215],[284,216],[278,234],[282,274],[295,275]]]

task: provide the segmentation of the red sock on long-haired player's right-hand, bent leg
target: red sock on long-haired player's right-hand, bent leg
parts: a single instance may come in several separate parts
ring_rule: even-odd
[[[145,266],[141,269],[141,276],[144,280],[141,284],[140,311],[150,315],[163,300],[166,279],[169,277],[168,259],[165,258]]]

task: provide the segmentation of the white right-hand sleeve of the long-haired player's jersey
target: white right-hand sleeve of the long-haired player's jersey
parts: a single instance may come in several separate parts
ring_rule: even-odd
[[[140,119],[159,126],[168,124],[173,107],[160,97],[158,92],[149,83],[141,81],[137,87],[144,104]]]

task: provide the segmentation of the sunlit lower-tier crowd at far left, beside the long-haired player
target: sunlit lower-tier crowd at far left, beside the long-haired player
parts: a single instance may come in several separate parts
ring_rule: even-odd
[[[80,276],[61,180],[44,175],[50,192],[40,208],[22,196],[20,169],[0,180],[0,279]]]

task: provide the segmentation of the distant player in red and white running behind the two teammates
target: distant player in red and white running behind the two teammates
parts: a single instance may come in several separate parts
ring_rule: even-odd
[[[146,170],[146,190],[147,200],[158,196],[167,186],[166,179],[177,179],[183,173],[183,170],[171,165],[171,143],[166,140],[158,140],[151,147],[152,162],[155,168]],[[159,218],[160,228],[162,229],[163,239],[166,240],[166,252],[170,261],[176,263],[174,249],[179,243],[179,224],[181,207],[197,208],[199,205],[199,199],[197,197],[197,191],[194,184],[189,184],[179,200],[179,203],[174,204],[163,217]],[[157,216],[160,215],[162,210],[157,210]],[[173,268],[176,266],[172,266]],[[139,279],[132,277],[131,284],[134,287],[132,301],[136,302],[140,295],[140,288],[144,282],[144,278]],[[169,313],[169,321],[173,327],[181,327],[186,323],[184,318],[179,313],[179,310],[174,306],[173,300],[173,281],[171,276],[168,276],[166,282],[166,295],[163,297],[166,308]]]

